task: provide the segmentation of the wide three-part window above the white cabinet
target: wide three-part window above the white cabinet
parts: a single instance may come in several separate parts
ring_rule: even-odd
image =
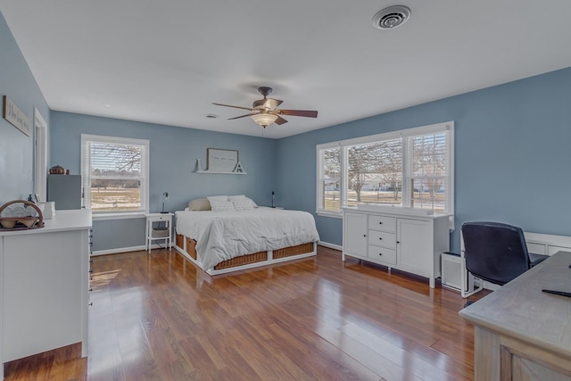
[[[317,212],[360,203],[453,214],[454,122],[317,146]]]

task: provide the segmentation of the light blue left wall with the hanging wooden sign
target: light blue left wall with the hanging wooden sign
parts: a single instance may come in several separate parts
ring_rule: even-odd
[[[49,122],[49,109],[1,13],[0,95],[8,95],[21,112],[28,116],[32,129],[28,137],[0,117],[0,205],[2,205],[34,193],[34,107],[47,122]]]

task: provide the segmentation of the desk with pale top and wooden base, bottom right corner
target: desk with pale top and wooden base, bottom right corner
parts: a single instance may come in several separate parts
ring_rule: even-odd
[[[473,323],[475,380],[571,380],[571,253],[558,252],[459,315]]]

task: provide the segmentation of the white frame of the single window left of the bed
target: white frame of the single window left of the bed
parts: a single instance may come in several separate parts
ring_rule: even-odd
[[[150,178],[150,141],[133,137],[111,137],[104,135],[81,134],[81,178],[84,189],[84,203],[91,207],[91,162],[87,157],[87,145],[91,143],[103,143],[113,145],[142,145],[145,147],[145,155],[141,163],[141,209],[137,211],[92,211],[93,219],[123,219],[138,218],[149,212],[149,178]]]

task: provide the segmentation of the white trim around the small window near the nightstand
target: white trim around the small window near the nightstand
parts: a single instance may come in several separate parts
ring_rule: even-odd
[[[81,175],[83,176],[82,182],[84,184],[85,193],[85,203],[87,204],[87,195],[90,195],[91,189],[86,186],[88,180],[86,178],[86,173],[88,173],[89,168],[87,168],[86,161],[86,144],[87,142],[98,142],[98,143],[111,143],[119,145],[145,145],[145,181],[141,187],[142,194],[141,202],[143,203],[142,211],[94,211],[94,219],[120,219],[120,218],[139,218],[144,216],[145,213],[149,212],[149,183],[150,183],[150,141],[147,139],[136,139],[132,137],[109,137],[104,135],[87,135],[81,134]]]

